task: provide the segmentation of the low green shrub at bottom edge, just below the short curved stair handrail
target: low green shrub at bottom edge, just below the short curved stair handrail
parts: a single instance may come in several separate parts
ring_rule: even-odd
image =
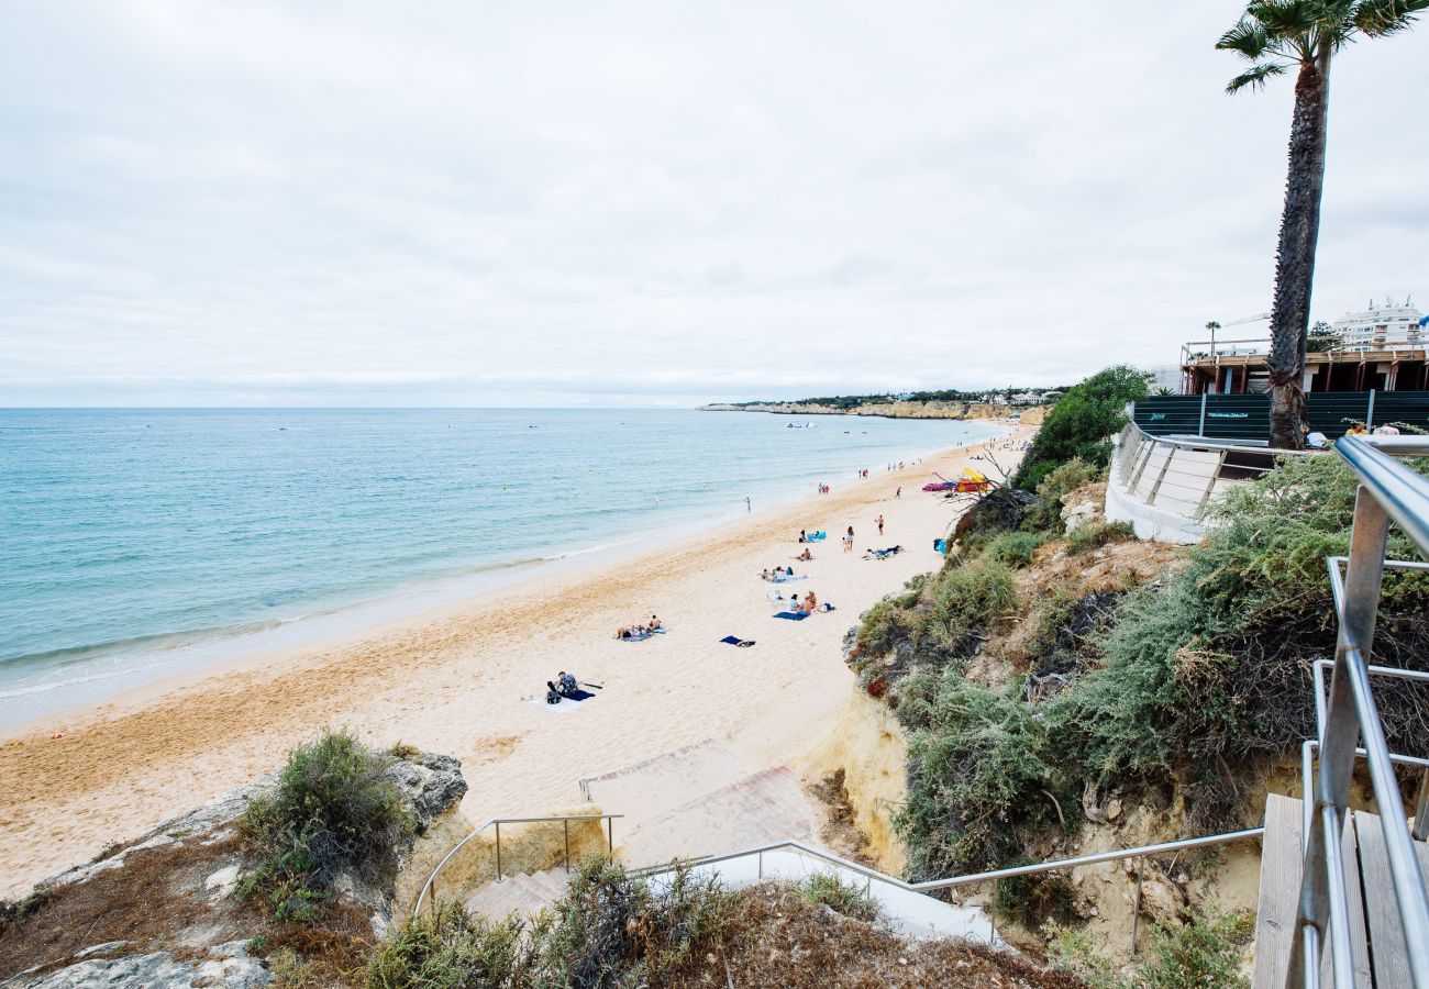
[[[459,903],[409,916],[367,960],[369,989],[464,989],[527,985],[533,959],[526,925],[512,915],[490,922]]]

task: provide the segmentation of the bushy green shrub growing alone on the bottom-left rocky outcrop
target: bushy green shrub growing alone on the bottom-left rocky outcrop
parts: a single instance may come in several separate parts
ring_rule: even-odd
[[[277,786],[244,813],[259,860],[239,882],[239,895],[266,898],[280,920],[312,920],[339,870],[370,876],[389,868],[412,829],[386,776],[392,762],[347,732],[326,732],[290,752]]]

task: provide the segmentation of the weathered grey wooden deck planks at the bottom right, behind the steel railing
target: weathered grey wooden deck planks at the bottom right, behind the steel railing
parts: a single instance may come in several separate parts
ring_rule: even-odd
[[[1300,895],[1300,822],[1299,800],[1275,793],[1266,799],[1253,989],[1285,986]],[[1429,873],[1429,846],[1416,845],[1419,862]],[[1355,985],[1408,989],[1412,983],[1405,968],[1405,945],[1379,816],[1362,810],[1352,813],[1345,822],[1340,848],[1346,863]],[[1335,985],[1328,948],[1320,965],[1320,985]]]

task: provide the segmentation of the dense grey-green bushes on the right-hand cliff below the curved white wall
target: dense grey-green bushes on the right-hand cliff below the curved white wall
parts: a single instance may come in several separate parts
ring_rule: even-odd
[[[1286,459],[1232,490],[1218,509],[1223,525],[1179,570],[1125,596],[1053,597],[1027,616],[1036,623],[1027,652],[1045,662],[1006,690],[967,682],[966,662],[916,635],[926,605],[882,613],[896,662],[869,652],[852,662],[877,672],[909,732],[896,825],[910,873],[1007,865],[1063,829],[1059,809],[1075,825],[1085,790],[1176,785],[1186,797],[1180,830],[1192,835],[1258,812],[1242,806],[1248,779],[1313,733],[1309,665],[1335,650],[1323,560],[1349,546],[1355,487],[1343,462],[1326,456]],[[1416,557],[1398,533],[1389,552]],[[985,566],[980,557],[946,565],[919,587],[919,602],[980,612],[962,587]],[[1089,629],[1096,647],[1080,645]],[[1385,573],[1375,650],[1390,666],[1429,653],[1429,575]],[[1043,666],[1055,685],[1037,685]],[[1376,683],[1400,752],[1429,755],[1425,695]]]

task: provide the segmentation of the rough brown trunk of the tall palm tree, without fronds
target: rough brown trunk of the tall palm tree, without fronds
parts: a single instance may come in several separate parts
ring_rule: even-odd
[[[1305,337],[1310,329],[1315,244],[1325,189],[1325,134],[1329,111],[1329,54],[1300,66],[1290,123],[1290,172],[1285,182],[1280,247],[1275,264],[1270,316],[1270,446],[1305,447]]]

